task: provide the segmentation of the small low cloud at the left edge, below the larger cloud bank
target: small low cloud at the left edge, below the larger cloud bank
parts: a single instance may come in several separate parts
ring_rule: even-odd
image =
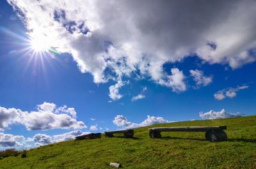
[[[15,136],[10,134],[0,133],[0,147],[15,147],[22,145],[24,136]]]

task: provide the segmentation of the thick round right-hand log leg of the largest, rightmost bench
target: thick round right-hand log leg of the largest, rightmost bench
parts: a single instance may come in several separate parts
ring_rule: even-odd
[[[206,131],[205,138],[211,142],[227,141],[227,134],[223,130]]]

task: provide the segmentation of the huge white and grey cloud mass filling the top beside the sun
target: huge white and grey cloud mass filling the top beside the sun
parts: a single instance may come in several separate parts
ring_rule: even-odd
[[[116,80],[109,87],[113,100],[122,98],[120,79],[135,71],[175,92],[186,91],[180,71],[173,69],[170,76],[163,64],[191,54],[234,69],[256,59],[253,0],[8,3],[31,38],[72,54],[79,70],[92,73],[95,83]]]

